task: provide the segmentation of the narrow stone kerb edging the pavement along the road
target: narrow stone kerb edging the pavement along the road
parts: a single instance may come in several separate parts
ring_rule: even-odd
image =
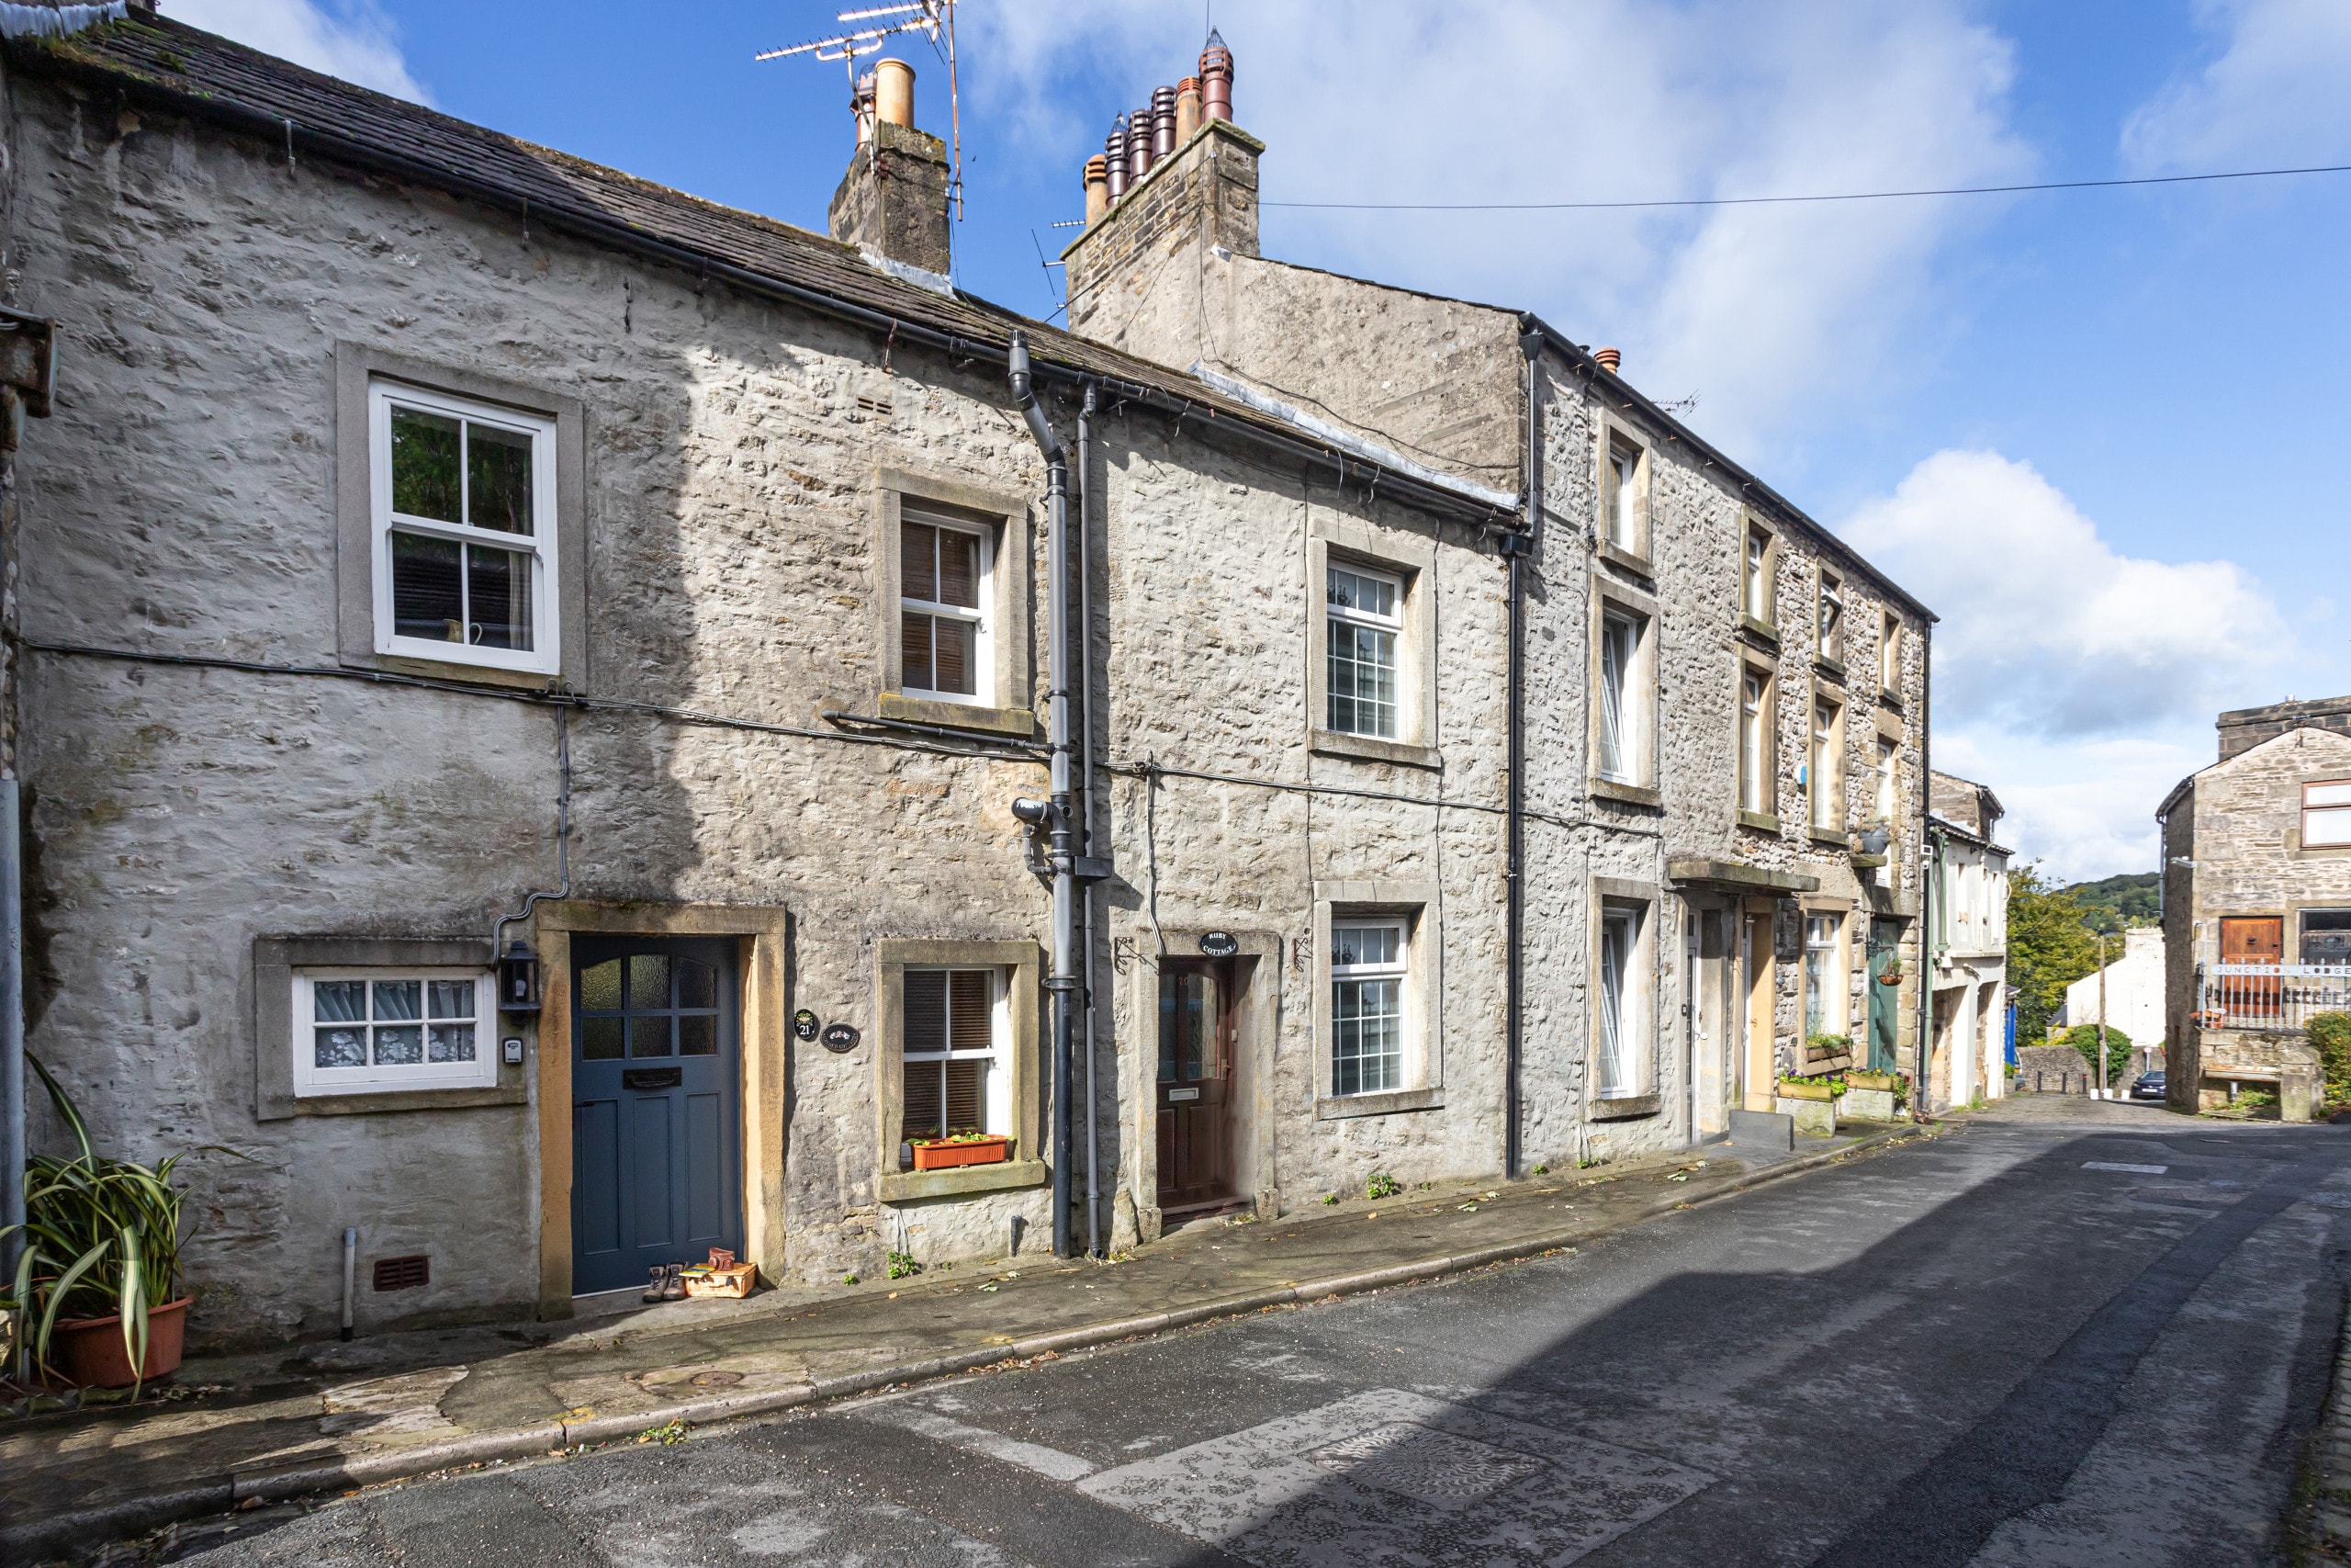
[[[1420,1258],[1411,1262],[1359,1269],[1349,1274],[1333,1274],[1326,1279],[1281,1284],[1267,1291],[1251,1291],[1241,1295],[1201,1300],[1166,1312],[1079,1324],[1072,1328],[1027,1335],[1002,1345],[983,1345],[976,1349],[957,1349],[938,1356],[893,1361],[886,1366],[875,1366],[842,1378],[820,1378],[811,1382],[795,1382],[748,1394],[717,1394],[708,1399],[665,1403],[621,1415],[588,1415],[583,1420],[571,1420],[571,1422],[555,1420],[555,1422],[534,1422],[527,1427],[461,1432],[458,1436],[449,1439],[388,1446],[374,1453],[339,1453],[334,1458],[301,1455],[280,1462],[256,1460],[230,1467],[228,1474],[205,1474],[197,1479],[183,1479],[167,1488],[158,1488],[139,1497],[122,1497],[94,1509],[75,1509],[66,1514],[52,1514],[49,1519],[0,1526],[0,1559],[38,1561],[42,1554],[56,1554],[75,1544],[120,1540],[125,1535],[160,1528],[176,1519],[195,1519],[223,1512],[249,1497],[259,1497],[263,1502],[280,1502],[287,1497],[301,1497],[310,1493],[350,1490],[355,1486],[374,1486],[383,1481],[428,1476],[440,1469],[456,1469],[465,1465],[487,1465],[494,1460],[531,1460],[562,1448],[628,1441],[656,1427],[668,1427],[672,1422],[698,1427],[726,1420],[743,1420],[752,1415],[771,1415],[795,1406],[823,1403],[851,1394],[870,1394],[875,1389],[900,1382],[952,1378],[985,1366],[1002,1366],[1006,1361],[1030,1361],[1044,1354],[1063,1354],[1096,1345],[1114,1345],[1119,1340],[1166,1333],[1171,1328],[1187,1328],[1215,1319],[1244,1316],[1244,1314],[1267,1312],[1274,1307],[1310,1305],[1326,1300],[1331,1295],[1357,1295],[1364,1291],[1380,1291],[1389,1286],[1462,1274],[1495,1262],[1516,1262],[1523,1258],[1538,1258],[1542,1253],[1573,1248],[1582,1241],[1596,1241],[1617,1229],[1627,1229],[1632,1225],[1660,1218],[1665,1213],[1695,1208],[1697,1204],[1726,1199],[1737,1192],[1747,1192],[1751,1187],[1782,1180],[1787,1175],[1815,1171],[1848,1154],[1857,1154],[1871,1147],[1886,1147],[1893,1143],[1907,1143],[1909,1138],[1923,1135],[1925,1131],[1928,1128],[1914,1128],[1914,1126],[1876,1131],[1836,1147],[1815,1150],[1796,1159],[1780,1159],[1751,1171],[1742,1171],[1740,1175],[1700,1187],[1695,1192],[1665,1192],[1650,1204],[1634,1211],[1632,1215],[1620,1215],[1615,1220],[1603,1220],[1596,1225],[1587,1222],[1573,1229],[1552,1229],[1545,1234],[1519,1237],[1512,1241],[1500,1241],[1462,1253]],[[1683,1164],[1686,1159],[1688,1152],[1683,1152]],[[1639,1173],[1653,1173],[1662,1182],[1662,1175],[1669,1168],[1672,1168],[1669,1164],[1657,1161],[1653,1171],[1639,1171]]]

